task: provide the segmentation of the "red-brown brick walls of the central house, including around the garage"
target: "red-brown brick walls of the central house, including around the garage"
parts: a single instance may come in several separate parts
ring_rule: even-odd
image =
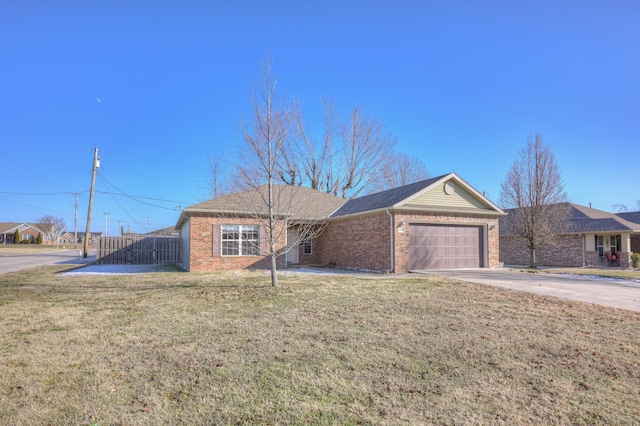
[[[405,222],[404,232],[399,232],[401,221]],[[497,218],[487,218],[480,215],[396,212],[393,214],[395,242],[393,272],[406,273],[409,267],[409,223],[482,226],[483,234],[488,234],[485,236],[487,238],[486,257],[488,264],[484,266],[489,268],[500,266]],[[214,256],[212,235],[214,225],[223,224],[254,225],[257,223],[251,218],[192,214],[188,224],[189,260],[188,265],[185,265],[189,271],[269,268],[268,256]],[[279,226],[284,226],[284,223],[280,223]],[[385,212],[332,220],[324,231],[313,240],[311,254],[304,254],[303,247],[297,247],[299,264],[391,272],[389,226],[389,216]],[[494,229],[491,229],[492,226]],[[264,229],[261,229],[261,232],[264,232]],[[285,245],[285,233],[282,232],[278,249],[284,249]],[[278,268],[284,268],[285,261],[285,256],[280,255]]]

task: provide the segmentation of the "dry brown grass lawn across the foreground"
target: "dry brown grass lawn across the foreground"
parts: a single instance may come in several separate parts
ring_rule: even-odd
[[[640,314],[438,278],[0,275],[2,424],[638,424]]]

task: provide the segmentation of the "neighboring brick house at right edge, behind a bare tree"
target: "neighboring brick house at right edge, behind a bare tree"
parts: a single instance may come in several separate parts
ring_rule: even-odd
[[[569,217],[556,241],[536,249],[538,265],[608,266],[606,254],[620,253],[620,266],[630,266],[631,254],[640,253],[640,212],[614,214],[573,203],[567,206]],[[525,242],[513,236],[506,217],[500,222],[500,261],[528,265]]]

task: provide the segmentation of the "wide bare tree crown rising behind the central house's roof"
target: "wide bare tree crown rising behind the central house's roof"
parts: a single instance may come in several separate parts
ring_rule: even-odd
[[[272,85],[275,86],[275,82]],[[260,97],[254,94],[254,103],[264,103],[265,94],[260,93]],[[395,180],[410,181],[416,176],[417,179],[426,176],[426,168],[419,160],[394,153],[396,138],[379,120],[355,107],[346,122],[342,122],[333,101],[325,98],[322,106],[324,129],[319,138],[307,125],[298,101],[294,100],[289,106],[278,100],[278,108],[273,111],[273,116],[268,116],[267,112],[254,112],[254,119],[260,113],[263,115],[260,119],[286,123],[283,124],[286,130],[283,130],[282,138],[278,139],[277,147],[272,151],[273,183],[307,186],[342,198],[355,198],[361,193],[391,186],[390,183],[385,184],[394,181],[393,165],[388,164],[389,161],[397,161],[399,167],[409,166],[408,169],[402,169],[405,175]],[[245,134],[248,129],[249,126],[245,125]],[[255,135],[259,134],[257,129],[252,131]],[[255,145],[255,141],[251,144]],[[239,169],[241,173],[240,179],[229,180],[232,190],[256,187],[267,181],[265,176],[269,173],[265,174],[265,166],[269,163],[262,161],[266,159],[259,156],[247,159],[246,151],[238,153],[237,157],[239,160],[230,169]],[[211,164],[210,168],[212,175],[221,169],[217,164]],[[220,176],[211,179],[213,187],[213,182],[220,180]]]

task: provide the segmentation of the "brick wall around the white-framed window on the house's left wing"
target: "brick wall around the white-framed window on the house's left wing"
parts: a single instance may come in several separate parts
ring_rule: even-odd
[[[189,261],[185,265],[191,272],[205,272],[217,270],[239,270],[239,269],[268,269],[270,268],[270,258],[267,255],[261,256],[214,256],[213,255],[213,229],[214,225],[258,225],[252,218],[242,217],[217,217],[207,214],[192,214],[189,221]],[[278,224],[277,232],[282,235],[278,241],[278,250],[286,246],[285,236],[282,227],[283,222]],[[262,234],[265,228],[260,229]],[[265,252],[266,254],[266,252]],[[186,263],[186,260],[185,260]],[[278,268],[285,266],[284,255],[278,256]]]

